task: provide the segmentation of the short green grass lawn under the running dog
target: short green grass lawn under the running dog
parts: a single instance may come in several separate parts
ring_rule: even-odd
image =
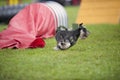
[[[66,7],[69,25],[77,9]],[[53,50],[54,38],[45,48],[1,49],[0,80],[120,80],[120,25],[85,25],[90,36],[68,50]]]

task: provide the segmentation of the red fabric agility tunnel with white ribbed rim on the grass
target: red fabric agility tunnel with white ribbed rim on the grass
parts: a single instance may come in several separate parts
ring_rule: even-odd
[[[59,3],[30,4],[10,20],[6,30],[0,32],[0,49],[43,48],[44,39],[54,37],[61,25],[67,26],[67,14]]]

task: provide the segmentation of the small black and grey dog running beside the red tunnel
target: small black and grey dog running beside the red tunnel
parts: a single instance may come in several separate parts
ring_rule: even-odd
[[[62,30],[63,28],[64,30]],[[59,27],[56,31],[55,39],[57,41],[57,46],[55,50],[65,50],[73,46],[78,38],[85,39],[88,36],[88,31],[83,27],[83,23],[79,24],[79,27],[75,30],[68,30],[65,27]]]

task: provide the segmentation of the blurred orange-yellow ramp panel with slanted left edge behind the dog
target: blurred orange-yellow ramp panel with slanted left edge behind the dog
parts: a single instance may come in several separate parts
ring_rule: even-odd
[[[82,0],[77,23],[120,24],[120,0]]]

